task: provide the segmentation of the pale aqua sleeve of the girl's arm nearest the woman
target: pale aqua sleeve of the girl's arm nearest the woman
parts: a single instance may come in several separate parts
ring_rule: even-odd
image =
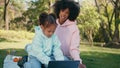
[[[60,41],[58,39],[57,36],[54,37],[54,46],[53,46],[53,55],[55,57],[56,60],[64,60],[64,56],[63,56],[63,53],[61,51],[61,48],[60,48]]]

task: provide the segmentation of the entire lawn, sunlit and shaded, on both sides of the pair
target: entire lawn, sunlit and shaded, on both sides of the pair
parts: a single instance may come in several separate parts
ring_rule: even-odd
[[[29,40],[0,41],[0,68],[3,68],[3,60],[9,49],[15,49],[16,55],[26,55],[24,47]],[[98,46],[81,45],[81,58],[87,68],[120,68],[120,49],[112,49]]]

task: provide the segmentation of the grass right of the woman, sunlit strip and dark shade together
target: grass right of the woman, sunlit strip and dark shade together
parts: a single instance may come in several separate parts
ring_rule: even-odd
[[[120,49],[81,45],[81,58],[87,68],[120,68]]]

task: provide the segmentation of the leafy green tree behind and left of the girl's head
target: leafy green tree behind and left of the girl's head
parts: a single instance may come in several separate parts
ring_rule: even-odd
[[[41,12],[49,11],[49,0],[36,0],[27,2],[27,9],[21,16],[12,20],[16,23],[15,28],[23,29],[25,27],[28,31],[33,31],[34,26],[38,25],[38,17]],[[15,29],[12,28],[12,29]]]

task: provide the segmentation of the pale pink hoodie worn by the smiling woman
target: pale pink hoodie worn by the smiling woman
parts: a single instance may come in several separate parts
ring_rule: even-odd
[[[57,28],[55,34],[58,36],[61,42],[61,49],[63,54],[67,57],[71,57],[74,60],[82,60],[80,59],[80,36],[79,29],[76,25],[76,21],[66,20],[62,25],[59,24],[57,19]]]

